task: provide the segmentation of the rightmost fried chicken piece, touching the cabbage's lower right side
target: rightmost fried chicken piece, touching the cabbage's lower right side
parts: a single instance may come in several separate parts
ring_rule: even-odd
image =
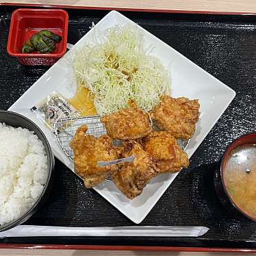
[[[194,135],[196,122],[199,120],[199,101],[190,101],[185,97],[162,97],[162,101],[150,112],[156,127],[175,136],[188,140]]]

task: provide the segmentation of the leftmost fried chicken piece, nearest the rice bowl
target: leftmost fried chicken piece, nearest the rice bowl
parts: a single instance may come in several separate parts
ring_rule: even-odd
[[[87,125],[79,127],[70,145],[75,154],[75,172],[84,179],[86,188],[92,188],[118,170],[114,164],[98,166],[98,161],[118,159],[118,155],[109,136],[86,135],[87,129]]]

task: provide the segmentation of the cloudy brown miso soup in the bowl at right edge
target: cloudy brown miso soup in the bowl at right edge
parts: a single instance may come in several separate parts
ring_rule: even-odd
[[[256,218],[256,145],[244,144],[231,151],[223,172],[229,196],[251,218]]]

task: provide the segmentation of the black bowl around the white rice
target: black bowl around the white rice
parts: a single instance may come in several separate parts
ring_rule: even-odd
[[[53,175],[53,168],[55,166],[55,159],[54,159],[54,155],[53,152],[51,150],[51,146],[49,144],[49,141],[47,140],[46,136],[44,135],[44,133],[42,132],[42,130],[38,127],[38,125],[36,125],[33,121],[29,120],[29,118],[18,114],[16,112],[12,112],[12,111],[6,111],[6,110],[0,110],[0,114],[1,113],[5,113],[5,114],[10,114],[11,116],[18,116],[19,118],[23,118],[27,123],[30,123],[31,126],[35,127],[36,129],[38,129],[39,133],[41,133],[43,140],[46,142],[47,144],[47,149],[49,150],[49,155],[50,155],[50,159],[49,159],[49,163],[50,166],[48,166],[48,171],[49,171],[49,175],[47,177],[47,181],[44,184],[44,189],[42,190],[40,196],[38,196],[38,199],[36,200],[36,202],[34,203],[34,205],[25,213],[23,214],[23,216],[21,216],[20,218],[16,219],[16,220],[12,220],[11,222],[7,222],[3,225],[0,226],[0,233],[2,231],[6,231],[8,229],[12,229],[13,227],[16,227],[18,225],[21,225],[23,222],[25,222],[31,215],[34,214],[35,212],[35,208],[38,207],[38,204],[40,203],[42,197],[44,196],[45,192],[47,191],[49,182],[51,180],[51,177]],[[36,131],[34,131],[36,134]]]

